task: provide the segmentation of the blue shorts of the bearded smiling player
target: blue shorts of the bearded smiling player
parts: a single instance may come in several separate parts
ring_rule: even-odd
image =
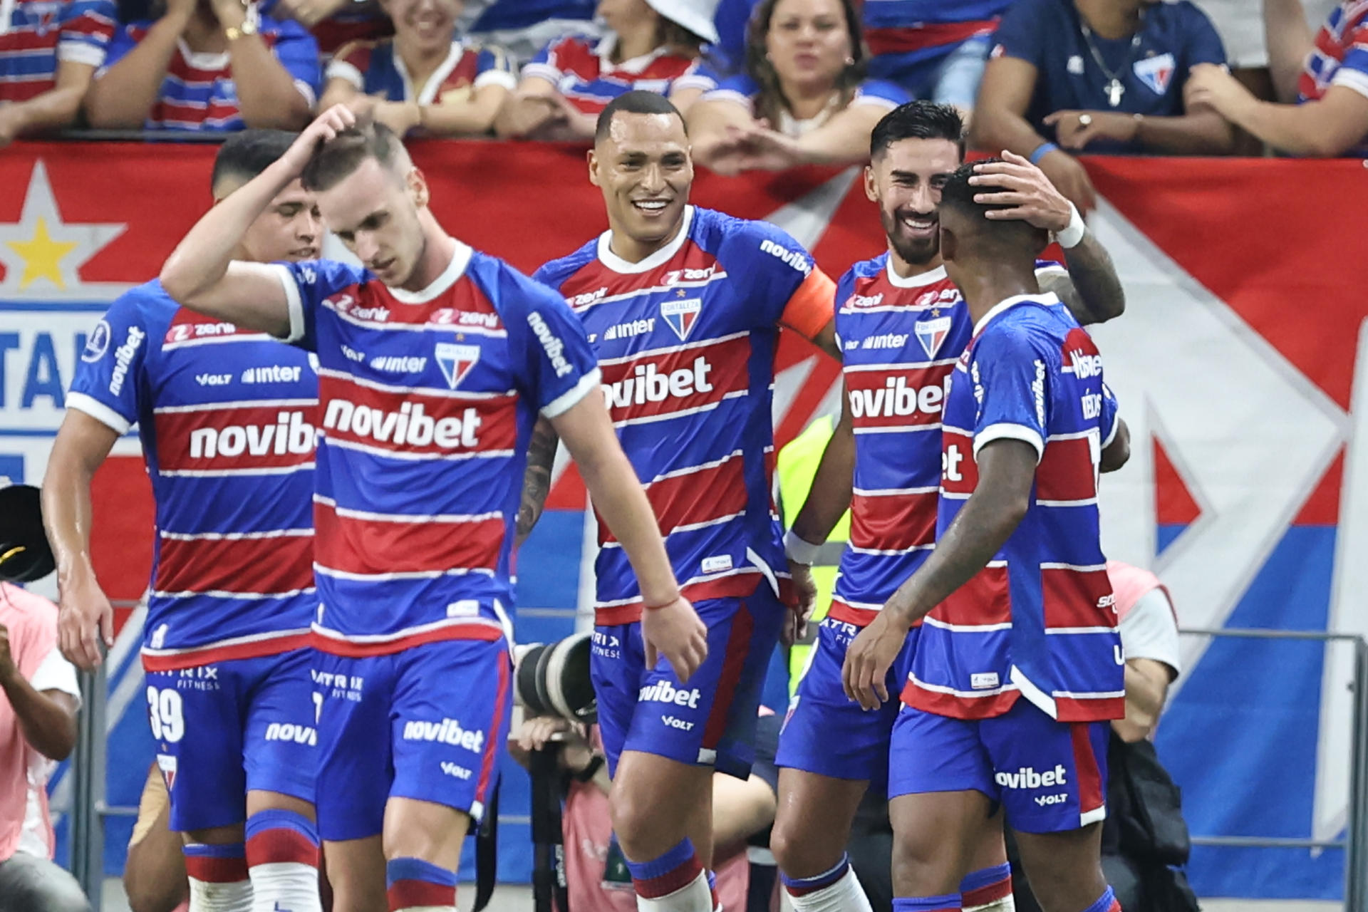
[[[845,696],[841,684],[845,649],[859,632],[859,626],[845,621],[830,617],[822,621],[807,671],[788,704],[774,764],[836,779],[866,779],[871,789],[884,792],[888,786],[888,740],[902,706],[897,696],[907,681],[921,628],[912,628],[903,651],[888,670],[884,680],[888,703],[869,712]]]

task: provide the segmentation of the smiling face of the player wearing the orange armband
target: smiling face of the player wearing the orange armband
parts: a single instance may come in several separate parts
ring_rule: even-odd
[[[684,220],[694,183],[684,122],[677,113],[617,112],[590,152],[590,182],[603,190],[614,234],[663,246]]]

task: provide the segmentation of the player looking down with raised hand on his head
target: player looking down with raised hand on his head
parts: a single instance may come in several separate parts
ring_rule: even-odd
[[[234,261],[302,179],[365,268]],[[646,637],[687,680],[706,639],[613,436],[565,302],[449,235],[384,126],[330,108],[161,272],[201,312],[319,357],[319,831],[338,912],[453,909],[509,723],[513,520],[540,413],[631,555]]]

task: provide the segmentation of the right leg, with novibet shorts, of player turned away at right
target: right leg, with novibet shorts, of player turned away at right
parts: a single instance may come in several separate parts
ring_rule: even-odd
[[[1107,723],[1056,722],[1018,700],[1007,715],[984,723],[984,737],[1040,907],[1045,912],[1119,912],[1101,867]]]

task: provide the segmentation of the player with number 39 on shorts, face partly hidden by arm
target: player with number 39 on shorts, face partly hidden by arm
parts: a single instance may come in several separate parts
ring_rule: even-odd
[[[293,141],[228,138],[211,182],[219,205]],[[309,260],[320,242],[313,196],[291,180],[233,252]],[[194,912],[319,908],[308,648],[317,395],[304,351],[185,310],[149,282],[90,334],[48,459],[62,651],[92,669],[97,637],[112,645],[114,614],[90,565],[90,480],[129,428],[142,438],[157,526],[142,667]]]

